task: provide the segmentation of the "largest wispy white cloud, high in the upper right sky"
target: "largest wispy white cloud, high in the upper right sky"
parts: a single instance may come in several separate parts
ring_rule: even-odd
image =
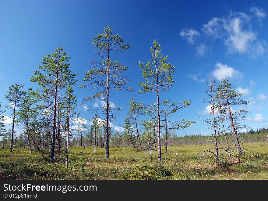
[[[203,25],[202,31],[212,38],[220,38],[227,47],[227,54],[248,54],[250,57],[262,55],[265,42],[258,40],[252,31],[250,17],[245,13],[229,12],[227,16],[213,17]]]

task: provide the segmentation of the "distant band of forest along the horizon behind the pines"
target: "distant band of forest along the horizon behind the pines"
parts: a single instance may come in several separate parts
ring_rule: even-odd
[[[227,138],[232,139],[233,133],[228,133]],[[240,139],[242,142],[247,143],[247,142],[266,142],[268,135],[268,127],[267,128],[259,128],[256,131],[251,129],[248,132],[243,132],[239,134]],[[119,132],[114,132],[111,131],[110,134],[110,141],[109,144],[111,147],[120,147],[120,146],[132,146],[131,141],[129,140],[128,135],[120,134]],[[9,145],[11,138],[11,130],[6,133],[6,135],[3,135],[2,140],[0,141],[1,144],[3,143],[4,145]],[[86,132],[86,136],[82,138],[83,144],[85,146],[94,146],[94,134],[92,132]],[[225,138],[224,135],[219,135],[218,136],[218,142],[219,144],[224,144],[225,143]],[[231,141],[232,142],[232,141]],[[142,138],[142,145],[146,146],[146,139]],[[155,145],[157,148],[157,136],[152,140],[152,143]],[[233,142],[235,143],[235,142]],[[103,141],[99,138],[97,138],[96,146],[97,147],[103,147]],[[180,137],[172,136],[170,133],[168,134],[168,145],[209,145],[209,144],[214,144],[214,136],[210,135],[184,135]],[[29,149],[28,148],[28,142],[27,142],[27,137],[26,135],[20,135],[16,136],[15,135],[15,140],[14,140],[14,145],[16,148],[24,148],[24,149]],[[72,136],[70,145],[72,146],[81,146],[81,141],[77,141],[76,136]],[[154,146],[153,145],[153,146]],[[37,147],[39,144],[37,143]],[[138,145],[137,145],[138,146]],[[152,147],[153,147],[152,146]],[[161,146],[165,146],[165,136],[162,137],[162,144]],[[44,143],[44,150],[50,149],[50,138],[48,136],[47,140],[45,140]]]

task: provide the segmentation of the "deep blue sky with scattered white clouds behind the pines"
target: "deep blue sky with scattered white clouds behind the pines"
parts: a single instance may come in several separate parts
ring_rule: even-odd
[[[113,55],[128,65],[125,76],[135,92],[113,91],[111,102],[121,107],[114,130],[121,131],[134,96],[141,102],[153,103],[155,94],[138,94],[139,81],[144,81],[139,61],[151,58],[150,47],[156,39],[168,63],[175,66],[170,91],[160,99],[172,102],[192,100],[192,104],[172,115],[172,119],[196,120],[197,123],[177,135],[203,134],[209,129],[198,116],[206,113],[203,103],[210,74],[220,82],[226,77],[250,103],[245,123],[250,127],[268,127],[267,64],[268,6],[266,1],[1,1],[0,0],[0,102],[11,84],[38,88],[30,77],[42,57],[59,46],[70,56],[70,69],[77,73],[74,93],[80,116],[89,121],[92,114],[80,104],[92,93],[81,89],[89,60],[94,55],[93,37],[108,24],[114,34],[129,43],[126,52]],[[94,102],[87,103],[87,107]],[[9,112],[5,116],[11,117]],[[104,118],[104,116],[101,116]],[[117,127],[115,127],[117,126]]]

